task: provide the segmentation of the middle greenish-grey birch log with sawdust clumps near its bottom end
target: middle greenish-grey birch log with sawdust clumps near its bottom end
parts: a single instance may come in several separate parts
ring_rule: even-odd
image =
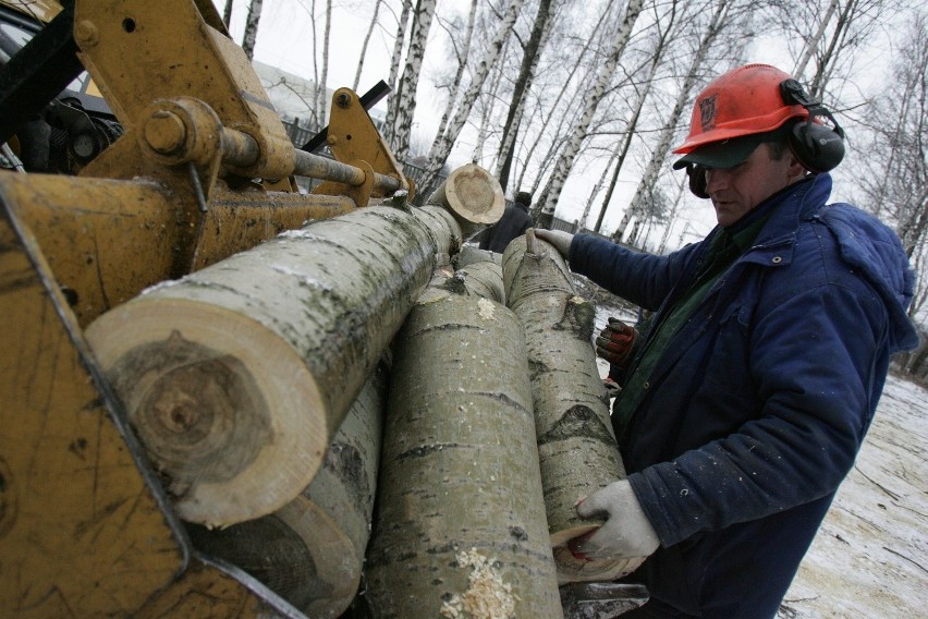
[[[394,340],[368,604],[560,619],[522,326],[441,280]]]

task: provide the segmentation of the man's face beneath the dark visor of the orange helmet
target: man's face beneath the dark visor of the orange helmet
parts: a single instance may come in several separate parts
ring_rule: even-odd
[[[770,145],[764,143],[734,168],[709,168],[706,192],[712,198],[719,226],[728,227],[801,177],[802,167],[792,153],[772,159]]]

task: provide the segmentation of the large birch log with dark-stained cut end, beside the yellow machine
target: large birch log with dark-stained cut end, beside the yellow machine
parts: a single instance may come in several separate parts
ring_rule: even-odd
[[[154,287],[86,330],[183,520],[293,500],[461,232],[439,207],[369,207]]]

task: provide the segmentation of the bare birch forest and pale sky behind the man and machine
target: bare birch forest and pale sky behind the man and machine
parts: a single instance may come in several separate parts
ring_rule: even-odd
[[[767,62],[832,110],[847,154],[832,199],[877,215],[928,317],[928,5],[918,0],[213,0],[249,58],[329,88],[383,80],[381,132],[425,169],[475,162],[533,215],[667,253],[715,224],[674,172],[693,100]],[[285,84],[281,86],[285,87]],[[326,124],[326,90],[306,114]],[[925,339],[925,338],[923,338]],[[928,347],[900,362],[928,376]]]

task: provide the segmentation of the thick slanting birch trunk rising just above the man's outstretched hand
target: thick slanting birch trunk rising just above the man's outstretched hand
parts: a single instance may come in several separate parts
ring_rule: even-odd
[[[586,139],[588,135],[593,117],[599,107],[599,101],[602,100],[606,87],[609,85],[609,82],[612,80],[612,75],[615,73],[615,68],[619,65],[619,59],[622,57],[625,46],[632,36],[632,27],[635,25],[635,21],[638,19],[638,14],[642,12],[643,5],[644,0],[628,0],[628,4],[625,7],[625,17],[622,21],[622,26],[615,35],[615,41],[609,51],[606,62],[599,71],[599,75],[593,86],[593,89],[584,99],[585,106],[581,121],[574,128],[574,132],[571,135],[567,147],[561,153],[561,157],[558,159],[558,165],[555,166],[552,174],[553,180],[551,189],[549,192],[546,192],[547,199],[545,205],[541,207],[541,214],[538,221],[538,224],[541,228],[550,228],[551,226],[551,220],[554,217],[554,209],[558,207],[558,199],[561,196],[561,190],[563,189],[564,182],[567,180],[567,175],[573,168],[574,159],[576,158],[577,153],[579,153],[579,148],[583,145],[584,139]]]

